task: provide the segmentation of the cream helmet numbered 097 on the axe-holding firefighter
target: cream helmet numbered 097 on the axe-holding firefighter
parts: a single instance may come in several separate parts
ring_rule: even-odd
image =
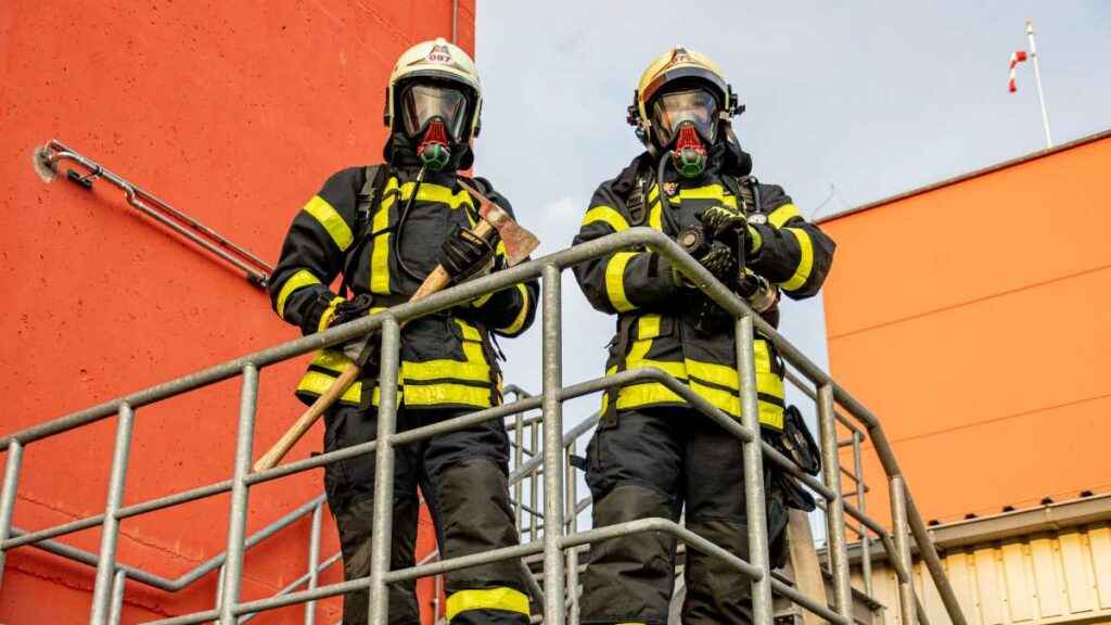
[[[470,100],[468,118],[461,128],[462,132],[456,139],[460,143],[468,143],[472,137],[477,137],[481,127],[480,117],[482,112],[482,83],[479,81],[478,70],[474,68],[474,60],[462,48],[443,39],[442,37],[430,41],[422,41],[409,48],[398,58],[398,62],[390,72],[390,83],[386,90],[386,126],[393,135],[401,130],[400,98],[406,83],[417,79],[430,79],[431,81],[446,81],[463,88]]]

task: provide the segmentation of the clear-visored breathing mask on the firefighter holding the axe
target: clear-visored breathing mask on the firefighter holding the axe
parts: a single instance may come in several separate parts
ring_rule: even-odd
[[[417,153],[432,171],[451,159],[451,146],[463,137],[468,120],[467,96],[439,85],[413,85],[401,96],[406,133],[418,140]]]

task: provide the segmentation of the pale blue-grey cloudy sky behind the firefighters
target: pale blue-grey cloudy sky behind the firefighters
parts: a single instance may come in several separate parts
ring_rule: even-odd
[[[1043,148],[1031,63],[1007,90],[1027,18],[1054,141],[1111,127],[1111,2],[478,0],[476,171],[539,235],[541,254],[567,247],[598,183],[641,150],[624,121],[641,71],[682,44],[714,59],[747,105],[734,128],[754,175],[803,215],[828,216]],[[569,384],[601,375],[614,321],[570,271],[563,285]],[[827,366],[821,298],[782,310],[781,331]],[[507,381],[540,389],[540,334],[538,316],[502,341]],[[569,404],[564,419],[597,401]]]

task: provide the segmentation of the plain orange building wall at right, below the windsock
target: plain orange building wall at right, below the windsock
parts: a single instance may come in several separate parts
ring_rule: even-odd
[[[1109,171],[1104,137],[823,225],[831,370],[925,518],[1111,489]]]

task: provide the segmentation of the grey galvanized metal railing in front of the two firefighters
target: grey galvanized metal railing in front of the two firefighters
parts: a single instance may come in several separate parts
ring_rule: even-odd
[[[654,368],[630,369],[620,374],[563,386],[560,349],[562,270],[590,258],[638,246],[654,249],[668,258],[679,270],[691,278],[694,284],[699,285],[709,297],[735,316],[738,375],[742,407],[742,418],[740,421],[715,408],[675,378]],[[513,401],[477,410],[451,420],[406,431],[397,431],[397,376],[400,365],[398,351],[400,325],[409,319],[449,308],[487,292],[500,290],[537,277],[540,277],[543,281],[543,383],[541,394],[536,397],[519,396]],[[382,357],[379,371],[379,379],[382,384],[376,440],[291,462],[264,472],[251,473],[250,459],[259,391],[259,370],[263,367],[317,349],[367,336],[374,331],[381,333],[382,341]],[[757,420],[755,367],[752,351],[754,331],[760,331],[761,335],[771,340],[779,348],[782,357],[815,388],[814,396],[817,398],[824,466],[821,480],[799,470],[789,458],[763,443],[760,438],[760,427]],[[136,410],[156,401],[232,377],[240,377],[242,379],[232,478],[130,506],[121,505]],[[569,528],[564,523],[554,522],[556,519],[567,518],[568,507],[565,502],[569,499],[567,495],[571,489],[570,484],[564,485],[564,470],[561,463],[561,456],[564,453],[562,404],[569,399],[584,395],[647,380],[662,384],[682,397],[692,408],[713,419],[727,431],[740,439],[743,446],[744,489],[748,506],[747,513],[750,519],[748,524],[750,545],[748,560],[741,559],[737,555],[727,552],[669,519],[643,518],[582,532],[577,530],[573,523]],[[841,492],[839,463],[840,446],[838,443],[837,426],[839,417],[834,411],[834,403],[839,403],[844,413],[851,418],[844,418],[842,424],[851,425],[852,428],[850,429],[854,433],[863,434],[867,431],[879,456],[889,479],[892,499],[897,504],[892,506],[895,527],[894,536],[878,522],[863,514],[861,509],[844,502]],[[539,447],[539,454],[528,462],[537,463],[536,470],[538,472],[538,477],[536,482],[539,487],[538,492],[542,493],[542,497],[539,497],[541,502],[536,502],[536,505],[530,506],[530,508],[533,516],[542,514],[543,516],[538,516],[538,518],[548,519],[548,523],[543,524],[542,533],[539,532],[539,528],[533,529],[530,527],[532,532],[529,540],[522,542],[519,545],[462,557],[451,557],[439,562],[423,563],[399,571],[390,571],[390,538],[393,520],[393,506],[390,505],[390,498],[393,493],[394,448],[398,445],[406,445],[442,433],[471,427],[489,419],[506,418],[538,408],[542,411],[542,420],[540,421],[538,435],[541,446]],[[19,485],[22,453],[26,446],[42,438],[69,431],[113,415],[118,418],[117,437],[104,513],[13,537],[11,535],[11,515]],[[862,427],[858,427],[853,421],[859,423]],[[520,430],[518,430],[517,436],[519,442]],[[572,443],[575,438],[571,438]],[[120,577],[116,562],[116,545],[119,536],[120,520],[139,514],[230,492],[231,509],[223,565],[224,574],[220,584],[219,604],[212,609],[164,618],[157,621],[157,623],[184,624],[219,621],[222,625],[231,625],[237,622],[238,617],[243,615],[287,605],[303,604],[323,597],[341,595],[350,591],[368,589],[370,596],[369,623],[371,625],[386,625],[386,616],[389,609],[386,593],[387,584],[437,575],[490,562],[542,554],[543,598],[540,614],[544,623],[562,625],[567,618],[567,578],[572,577],[574,575],[573,572],[577,571],[577,567],[567,567],[568,563],[565,562],[564,554],[569,549],[571,554],[574,554],[577,553],[574,547],[580,545],[589,545],[633,533],[660,532],[674,536],[684,543],[688,549],[695,549],[720,558],[744,574],[752,585],[753,616],[757,623],[771,623],[771,597],[772,591],[774,591],[822,618],[841,625],[849,625],[851,623],[851,588],[845,538],[845,515],[849,515],[861,524],[865,535],[867,532],[871,532],[879,538],[880,543],[887,549],[888,557],[894,563],[897,574],[903,582],[900,586],[900,596],[904,623],[914,623],[917,615],[924,617],[924,613],[921,609],[912,607],[918,602],[913,596],[913,585],[911,583],[911,560],[909,537],[907,535],[907,530],[909,529],[918,547],[919,555],[924,560],[927,569],[937,585],[939,595],[952,623],[965,625],[957,597],[944,576],[937,550],[930,542],[925,524],[914,506],[914,500],[905,486],[902,473],[879,419],[844,388],[833,381],[827,373],[821,370],[785,338],[754,315],[740,298],[722,284],[718,282],[695,260],[683,252],[674,241],[662,232],[643,227],[631,228],[615,235],[564,249],[494,275],[453,287],[427,299],[403,304],[366,319],[257,351],[169,383],[8,435],[0,442],[0,447],[7,449],[3,490],[0,494],[0,573],[2,573],[3,566],[2,556],[11,548],[100,525],[102,527],[102,538],[97,559],[98,568],[90,618],[96,624],[108,623],[112,604],[121,598],[122,584],[113,584],[116,578]],[[573,449],[573,445],[571,448]],[[523,454],[521,446],[518,446],[517,449],[518,454]],[[533,447],[533,453],[536,453],[536,449]],[[359,579],[349,579],[311,589],[297,591],[281,596],[242,601],[240,589],[243,553],[247,543],[246,520],[250,488],[264,482],[319,468],[343,458],[351,458],[370,452],[376,452],[374,479],[377,485],[372,520],[373,537],[370,575]],[[827,513],[828,527],[828,558],[833,587],[832,607],[827,605],[824,597],[807,597],[791,585],[771,574],[768,559],[767,526],[764,524],[765,510],[762,473],[765,460],[771,462],[779,469],[793,475],[824,502],[823,507]],[[859,467],[854,468],[859,476]],[[520,469],[521,466],[518,467],[518,474],[520,474]],[[532,497],[538,498],[536,495]],[[523,507],[519,498],[517,505]],[[539,509],[537,509],[538,507]],[[572,507],[578,509],[578,503],[575,502]],[[571,515],[571,519],[573,518],[575,518],[574,515]],[[899,548],[897,548],[897,545]]]

